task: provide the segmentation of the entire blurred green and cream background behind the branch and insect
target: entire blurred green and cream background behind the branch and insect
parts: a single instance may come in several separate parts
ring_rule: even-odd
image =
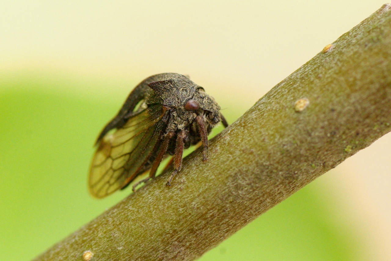
[[[0,260],[36,257],[130,193],[93,199],[87,172],[97,134],[145,77],[189,74],[232,123],[382,4],[4,1]],[[388,136],[200,260],[390,260]]]

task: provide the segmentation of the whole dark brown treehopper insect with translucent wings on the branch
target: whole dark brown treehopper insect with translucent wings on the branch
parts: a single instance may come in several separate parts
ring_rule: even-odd
[[[207,160],[208,134],[219,122],[228,123],[220,106],[201,86],[185,75],[161,73],[143,80],[129,94],[117,115],[100,132],[95,145],[89,188],[94,197],[103,198],[129,185],[149,170],[155,177],[161,160],[174,155],[174,171],[181,170],[183,149],[203,144]]]

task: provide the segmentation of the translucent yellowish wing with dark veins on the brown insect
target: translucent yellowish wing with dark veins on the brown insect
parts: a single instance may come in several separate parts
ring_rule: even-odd
[[[161,105],[149,107],[100,140],[88,181],[94,197],[110,195],[149,168],[161,142],[166,112],[167,108]]]

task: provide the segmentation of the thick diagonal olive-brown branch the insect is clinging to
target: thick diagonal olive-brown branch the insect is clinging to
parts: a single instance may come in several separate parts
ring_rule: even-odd
[[[271,89],[212,139],[207,163],[196,150],[172,187],[160,175],[35,260],[194,260],[389,132],[390,10]]]

